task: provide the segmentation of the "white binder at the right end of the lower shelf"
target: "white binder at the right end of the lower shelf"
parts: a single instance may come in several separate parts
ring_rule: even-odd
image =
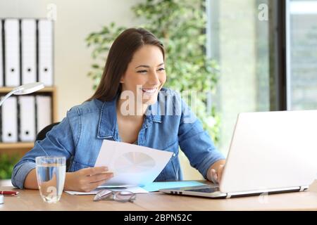
[[[35,96],[37,104],[37,133],[52,123],[51,96]]]

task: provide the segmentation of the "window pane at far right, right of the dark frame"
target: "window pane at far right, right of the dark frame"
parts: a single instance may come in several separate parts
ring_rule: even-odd
[[[317,1],[287,0],[287,109],[317,108]]]

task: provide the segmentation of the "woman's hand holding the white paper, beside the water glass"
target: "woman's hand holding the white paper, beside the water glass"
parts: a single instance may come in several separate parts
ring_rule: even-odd
[[[89,192],[113,177],[107,167],[89,167],[66,173],[65,190]]]

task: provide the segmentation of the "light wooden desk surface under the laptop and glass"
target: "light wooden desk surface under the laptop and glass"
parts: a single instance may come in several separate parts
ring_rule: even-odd
[[[1,191],[17,191],[1,187]],[[113,200],[93,202],[94,195],[63,193],[56,204],[44,203],[36,190],[19,190],[18,196],[5,196],[1,210],[317,210],[317,181],[309,191],[244,198],[219,199],[168,195],[164,193],[137,194],[135,203],[118,203]]]

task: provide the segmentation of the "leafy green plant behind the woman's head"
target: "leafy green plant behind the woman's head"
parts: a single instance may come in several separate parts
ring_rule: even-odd
[[[213,140],[219,141],[220,119],[216,108],[206,110],[207,93],[216,91],[218,65],[206,56],[206,12],[203,0],[147,0],[132,7],[137,18],[145,20],[144,27],[156,35],[166,49],[166,85],[179,91],[197,91],[195,113],[209,131]],[[94,79],[94,89],[99,84],[104,61],[114,39],[125,30],[115,23],[87,36],[87,46],[94,46],[95,63],[89,77]],[[190,101],[190,97],[189,97]]]

